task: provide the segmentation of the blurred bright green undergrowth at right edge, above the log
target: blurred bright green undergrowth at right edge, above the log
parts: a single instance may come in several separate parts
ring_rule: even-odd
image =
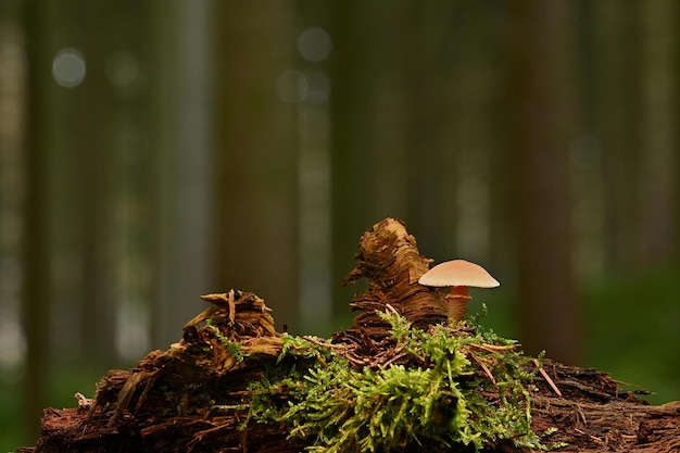
[[[680,400],[680,263],[610,275],[588,285],[583,363],[653,392],[652,404]]]

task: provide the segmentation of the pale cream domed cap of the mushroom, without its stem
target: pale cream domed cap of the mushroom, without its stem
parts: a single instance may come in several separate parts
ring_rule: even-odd
[[[501,284],[479,264],[465,260],[446,261],[432,267],[418,280],[427,287],[495,288]]]

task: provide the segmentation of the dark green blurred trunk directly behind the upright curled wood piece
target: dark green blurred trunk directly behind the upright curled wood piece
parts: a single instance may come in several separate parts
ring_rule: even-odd
[[[337,285],[352,268],[351,257],[342,251],[356,244],[356,235],[374,222],[370,216],[376,211],[378,134],[375,129],[381,115],[376,111],[379,70],[370,49],[378,39],[376,36],[392,30],[385,23],[388,11],[391,7],[385,2],[336,2],[332,13],[331,276],[336,282],[332,287],[336,319],[347,318],[347,307],[340,301],[351,294]]]

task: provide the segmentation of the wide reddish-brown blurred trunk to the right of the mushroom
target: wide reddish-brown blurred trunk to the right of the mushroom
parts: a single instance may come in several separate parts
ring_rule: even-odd
[[[509,7],[507,172],[522,344],[575,363],[569,148],[574,140],[572,3]]]

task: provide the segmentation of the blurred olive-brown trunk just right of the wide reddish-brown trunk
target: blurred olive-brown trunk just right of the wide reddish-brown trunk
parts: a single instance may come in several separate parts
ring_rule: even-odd
[[[602,147],[606,264],[634,267],[640,237],[642,3],[592,2],[593,128]]]

